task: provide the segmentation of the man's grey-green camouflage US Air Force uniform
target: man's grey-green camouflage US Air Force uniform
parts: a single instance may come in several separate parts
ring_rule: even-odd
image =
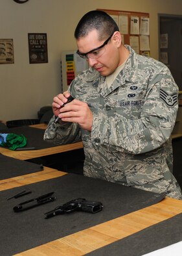
[[[93,68],[69,86],[93,113],[91,132],[76,123],[55,124],[53,117],[44,139],[56,144],[82,139],[84,175],[181,199],[172,175],[170,139],[177,85],[164,64],[126,47],[130,57],[111,87]]]

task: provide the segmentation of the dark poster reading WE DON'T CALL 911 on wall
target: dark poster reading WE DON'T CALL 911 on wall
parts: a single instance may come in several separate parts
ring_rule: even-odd
[[[30,64],[47,63],[47,34],[28,33],[28,49]]]

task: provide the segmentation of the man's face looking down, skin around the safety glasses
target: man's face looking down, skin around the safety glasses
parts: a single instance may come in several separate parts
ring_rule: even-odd
[[[113,34],[113,36],[114,35],[115,33]],[[113,36],[108,41],[108,43],[100,49],[100,52],[102,52],[102,55],[100,57],[91,58],[91,55],[90,57],[89,54],[87,55],[87,62],[89,63],[89,66],[95,68],[95,70],[97,70],[102,76],[111,75],[111,73],[113,73],[120,65],[119,47],[115,44]],[[93,30],[89,32],[87,36],[76,40],[76,44],[80,53],[88,53],[89,51],[92,51],[92,49],[100,47],[100,45],[102,45],[105,40],[99,41],[98,32],[96,30]],[[95,52],[93,51],[93,53]]]

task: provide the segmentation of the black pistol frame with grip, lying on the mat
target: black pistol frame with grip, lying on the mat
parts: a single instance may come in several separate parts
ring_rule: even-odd
[[[100,212],[102,211],[103,205],[100,202],[95,201],[86,201],[85,198],[76,198],[62,206],[56,207],[54,210],[45,213],[45,218],[51,218],[53,216],[71,213],[75,211],[83,211],[83,212]]]

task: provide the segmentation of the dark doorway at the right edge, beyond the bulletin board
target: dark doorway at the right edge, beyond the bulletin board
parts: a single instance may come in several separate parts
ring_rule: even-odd
[[[159,60],[182,90],[182,16],[159,14]]]

